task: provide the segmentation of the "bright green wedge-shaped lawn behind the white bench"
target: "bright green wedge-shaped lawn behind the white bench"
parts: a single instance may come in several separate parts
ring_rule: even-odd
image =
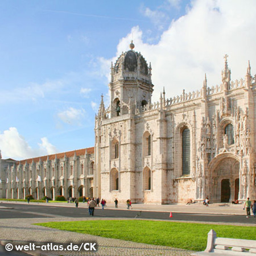
[[[207,233],[210,229],[216,231],[217,237],[256,240],[255,227],[249,226],[147,220],[70,221],[39,223],[35,225],[196,251],[205,249]]]

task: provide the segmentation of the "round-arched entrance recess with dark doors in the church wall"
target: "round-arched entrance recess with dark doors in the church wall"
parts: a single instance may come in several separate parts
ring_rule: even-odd
[[[228,203],[238,199],[240,163],[234,158],[220,160],[212,178],[212,201]]]

